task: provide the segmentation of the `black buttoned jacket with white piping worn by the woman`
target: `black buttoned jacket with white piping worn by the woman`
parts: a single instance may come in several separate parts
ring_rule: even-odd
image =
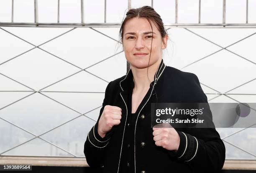
[[[136,111],[134,163],[135,173],[162,172],[216,172],[225,161],[225,145],[215,128],[179,128],[180,137],[177,152],[166,150],[155,145],[151,128],[151,102],[195,102],[207,103],[197,76],[166,66],[161,61],[146,96]],[[111,81],[105,91],[105,98],[100,109],[99,118],[87,135],[84,143],[84,155],[90,167],[104,166],[104,173],[124,172],[127,138],[127,117],[131,112],[128,102],[129,91],[133,88],[133,74],[130,69],[127,75]],[[154,89],[153,89],[154,88]],[[104,138],[97,133],[97,125],[105,105],[122,109],[119,125]],[[144,142],[144,143],[143,143]],[[142,144],[143,143],[143,144]],[[143,172],[144,171],[144,172]]]

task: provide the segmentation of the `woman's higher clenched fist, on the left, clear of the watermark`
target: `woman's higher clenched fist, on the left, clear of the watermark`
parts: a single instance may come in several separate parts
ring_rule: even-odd
[[[98,123],[98,133],[103,138],[114,125],[119,125],[122,115],[122,109],[117,106],[106,105],[100,116]]]

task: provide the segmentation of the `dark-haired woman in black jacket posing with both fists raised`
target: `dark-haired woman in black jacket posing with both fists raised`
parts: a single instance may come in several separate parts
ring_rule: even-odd
[[[149,6],[130,9],[120,28],[128,74],[111,81],[84,143],[90,167],[105,173],[220,170],[225,146],[215,128],[151,128],[151,103],[207,103],[195,74],[166,66],[168,35]]]

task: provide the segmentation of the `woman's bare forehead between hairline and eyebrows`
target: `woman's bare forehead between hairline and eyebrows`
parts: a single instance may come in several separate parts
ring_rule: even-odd
[[[159,32],[156,28],[154,22],[151,21],[153,32],[157,33]],[[127,32],[147,32],[152,31],[151,26],[146,18],[131,18],[130,20],[127,20],[124,26],[124,34]]]

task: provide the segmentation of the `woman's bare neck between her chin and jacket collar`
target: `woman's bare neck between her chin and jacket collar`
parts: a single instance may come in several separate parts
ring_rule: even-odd
[[[159,59],[159,61],[157,61],[156,63],[143,69],[138,69],[131,66],[131,71],[133,72],[134,90],[148,90],[148,88],[150,87],[150,83],[154,81],[154,75],[156,74],[161,60],[162,59]],[[150,81],[148,81],[148,78]]]

